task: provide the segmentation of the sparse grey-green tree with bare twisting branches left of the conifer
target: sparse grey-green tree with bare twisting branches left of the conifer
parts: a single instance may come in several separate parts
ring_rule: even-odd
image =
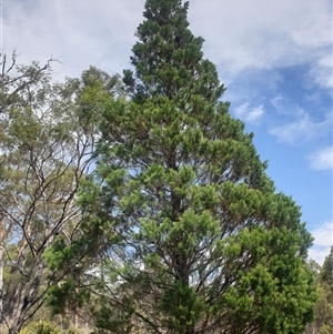
[[[10,333],[62,279],[48,271],[44,254],[57,235],[70,242],[80,234],[78,188],[93,172],[100,105],[118,84],[93,67],[81,79],[53,83],[50,65],[18,67],[13,55],[6,69],[2,58],[0,210],[7,280],[1,303]]]

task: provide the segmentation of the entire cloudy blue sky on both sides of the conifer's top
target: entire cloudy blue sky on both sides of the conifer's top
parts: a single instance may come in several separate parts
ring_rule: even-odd
[[[78,77],[130,67],[144,0],[0,0],[1,50]],[[332,3],[190,0],[190,29],[226,87],[231,113],[253,131],[276,190],[302,206],[322,263],[332,245]]]

